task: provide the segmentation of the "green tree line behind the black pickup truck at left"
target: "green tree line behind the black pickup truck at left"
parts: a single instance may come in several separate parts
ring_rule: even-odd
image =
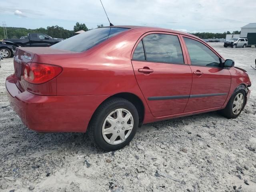
[[[103,24],[97,25],[97,28],[103,27]],[[76,35],[74,32],[84,30],[88,31],[89,29],[83,23],[76,22],[74,26],[74,30],[66,30],[63,27],[58,25],[56,26],[48,26],[47,28],[37,28],[37,29],[26,29],[26,28],[19,28],[19,27],[7,27],[7,34],[8,38],[20,38],[21,36],[27,36],[28,33],[44,33],[53,38],[70,38]],[[4,39],[4,28],[0,27],[0,40]]]

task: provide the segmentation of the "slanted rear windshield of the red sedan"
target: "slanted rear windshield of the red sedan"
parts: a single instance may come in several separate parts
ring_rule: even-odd
[[[86,51],[97,44],[111,38],[125,30],[127,28],[116,28],[116,27],[104,27],[96,28],[84,33],[70,37],[64,41],[52,45],[52,48],[64,49],[76,52]]]

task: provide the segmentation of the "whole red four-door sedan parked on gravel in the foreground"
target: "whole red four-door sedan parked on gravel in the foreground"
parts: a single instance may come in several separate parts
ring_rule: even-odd
[[[108,151],[126,146],[145,123],[216,110],[236,118],[251,85],[245,70],[196,36],[140,26],[17,48],[14,70],[8,98],[28,128],[88,131]]]

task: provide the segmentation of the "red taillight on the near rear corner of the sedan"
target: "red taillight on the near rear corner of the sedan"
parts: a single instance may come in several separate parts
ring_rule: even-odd
[[[62,71],[60,66],[41,64],[41,63],[27,63],[24,68],[24,80],[32,84],[42,84],[48,82],[58,76]]]

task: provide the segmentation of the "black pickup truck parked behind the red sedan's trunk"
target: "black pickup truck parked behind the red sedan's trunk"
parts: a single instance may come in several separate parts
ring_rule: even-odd
[[[62,41],[63,39],[52,38],[43,33],[29,33],[28,38],[4,40],[14,42],[21,47],[48,47]]]

